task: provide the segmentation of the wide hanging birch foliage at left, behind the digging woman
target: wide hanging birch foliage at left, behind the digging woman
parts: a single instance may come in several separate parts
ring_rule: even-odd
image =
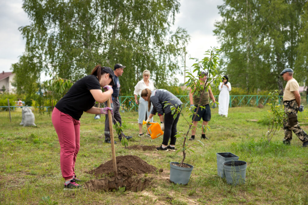
[[[31,23],[19,28],[26,52],[13,65],[18,92],[38,90],[41,74],[76,81],[115,63],[126,66],[122,95],[132,95],[145,69],[156,86],[175,84],[189,40],[186,30],[171,30],[179,7],[178,0],[24,0]]]

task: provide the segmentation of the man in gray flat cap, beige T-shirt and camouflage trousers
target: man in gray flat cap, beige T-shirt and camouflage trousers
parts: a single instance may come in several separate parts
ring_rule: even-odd
[[[285,91],[283,93],[283,105],[285,107],[285,113],[288,119],[283,120],[283,131],[285,137],[283,139],[284,144],[290,144],[292,140],[292,131],[303,142],[303,147],[308,146],[308,135],[299,126],[297,120],[297,112],[302,112],[304,107],[301,106],[301,95],[299,94],[298,82],[293,78],[293,70],[286,68],[280,73],[283,80],[287,81]]]

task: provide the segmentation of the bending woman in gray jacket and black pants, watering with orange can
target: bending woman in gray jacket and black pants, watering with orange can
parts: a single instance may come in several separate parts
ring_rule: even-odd
[[[176,124],[179,121],[180,115],[177,115],[173,119],[170,106],[165,106],[165,103],[171,103],[177,109],[181,109],[182,102],[174,94],[170,93],[168,90],[158,89],[158,90],[149,90],[148,88],[142,90],[141,97],[148,101],[148,109],[150,110],[151,104],[153,104],[153,109],[151,114],[147,119],[147,123],[150,122],[151,118],[158,113],[160,119],[161,130],[164,131],[163,142],[160,147],[157,147],[157,151],[175,151],[175,142],[176,142]],[[170,139],[170,145],[168,145]]]

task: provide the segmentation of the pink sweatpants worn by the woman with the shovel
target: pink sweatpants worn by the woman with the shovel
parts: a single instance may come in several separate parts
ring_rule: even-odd
[[[75,175],[76,156],[80,148],[80,120],[64,114],[54,108],[51,115],[52,124],[60,143],[60,165],[63,178],[71,179]]]

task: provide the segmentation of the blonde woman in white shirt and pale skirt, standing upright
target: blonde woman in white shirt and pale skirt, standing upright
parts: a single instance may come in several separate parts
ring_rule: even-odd
[[[134,90],[134,95],[135,95],[135,102],[138,105],[138,114],[139,114],[139,119],[138,119],[138,123],[139,123],[139,136],[142,137],[144,136],[144,133],[142,132],[142,122],[143,120],[147,120],[147,118],[149,117],[153,106],[151,106],[150,111],[148,110],[148,101],[145,101],[143,98],[139,98],[139,101],[137,100],[137,96],[141,95],[141,91],[148,88],[151,91],[154,90],[154,83],[152,80],[150,80],[150,71],[149,70],[144,70],[142,72],[143,75],[143,79],[140,80],[137,85],[135,86],[135,90]],[[153,118],[151,119],[151,122],[153,122]],[[150,125],[147,125],[147,127],[149,127]],[[147,130],[147,136],[151,137],[149,135],[150,133],[148,133]]]

